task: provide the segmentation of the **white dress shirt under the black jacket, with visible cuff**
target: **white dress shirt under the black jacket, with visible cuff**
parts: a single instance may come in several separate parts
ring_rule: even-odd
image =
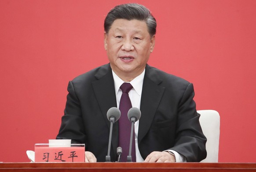
[[[112,70],[113,79],[114,79],[114,85],[115,85],[115,91],[116,91],[116,98],[117,98],[117,108],[119,109],[119,103],[122,95],[122,90],[120,89],[120,86],[124,83],[123,80],[121,80],[120,77],[117,76],[117,74],[114,73]],[[142,87],[143,87],[143,79],[145,75],[145,69],[143,72],[138,76],[135,77],[130,84],[132,84],[132,89],[129,91],[128,95],[132,102],[132,107],[136,107],[140,109],[140,100],[141,100],[141,93],[142,93]],[[136,152],[136,162],[143,162],[144,159],[141,157],[141,154],[139,152],[138,147],[138,131],[139,131],[139,120],[135,122],[134,124],[134,133],[135,133],[135,152]],[[183,155],[179,154],[176,151],[168,150],[175,154],[176,162],[184,162],[186,161],[186,158],[183,157]]]

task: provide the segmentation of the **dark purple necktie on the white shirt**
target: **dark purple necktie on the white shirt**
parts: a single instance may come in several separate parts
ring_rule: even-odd
[[[132,89],[132,85],[130,83],[124,82],[121,85],[120,89],[122,90],[122,96],[120,99],[119,109],[121,111],[121,117],[119,119],[119,146],[122,147],[123,153],[121,162],[127,161],[127,156],[129,153],[129,145],[130,145],[130,134],[131,134],[131,122],[128,119],[127,113],[128,110],[132,108],[132,103],[129,98],[128,92]],[[135,135],[133,133],[132,140],[132,161],[136,162],[136,154],[135,154]]]

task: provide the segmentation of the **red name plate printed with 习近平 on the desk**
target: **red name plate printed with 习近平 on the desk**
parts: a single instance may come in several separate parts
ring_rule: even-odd
[[[35,144],[35,162],[84,162],[84,154],[84,144]]]

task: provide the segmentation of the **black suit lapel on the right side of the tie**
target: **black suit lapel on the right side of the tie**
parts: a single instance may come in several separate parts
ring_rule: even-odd
[[[159,86],[162,80],[153,70],[155,69],[148,65],[146,66],[140,103],[141,117],[139,119],[138,144],[150,129],[157,107],[165,91],[164,87]]]

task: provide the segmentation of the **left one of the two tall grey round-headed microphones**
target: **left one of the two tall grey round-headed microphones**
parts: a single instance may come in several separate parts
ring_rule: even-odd
[[[110,137],[109,137],[109,145],[108,145],[108,154],[106,155],[106,162],[110,162],[110,146],[111,146],[111,139],[112,139],[112,130],[113,130],[113,123],[115,123],[121,116],[121,112],[118,108],[112,107],[107,112],[107,118],[110,121]]]

